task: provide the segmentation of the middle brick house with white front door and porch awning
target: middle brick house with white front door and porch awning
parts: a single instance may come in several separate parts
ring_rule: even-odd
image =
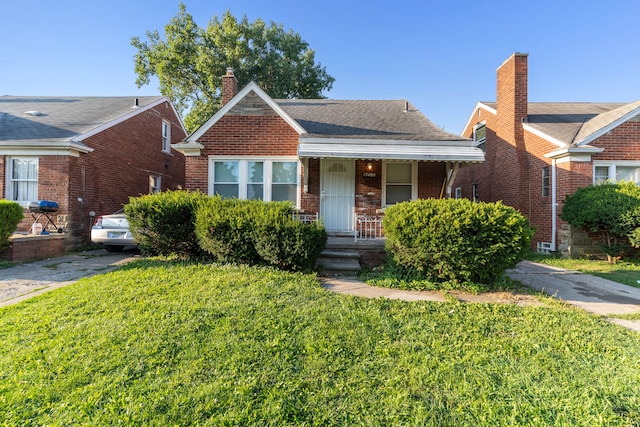
[[[253,82],[238,92],[231,70],[222,92],[223,107],[173,145],[186,188],[290,200],[331,233],[364,232],[360,221],[400,201],[446,197],[460,166],[484,160],[404,100],[272,99]]]

